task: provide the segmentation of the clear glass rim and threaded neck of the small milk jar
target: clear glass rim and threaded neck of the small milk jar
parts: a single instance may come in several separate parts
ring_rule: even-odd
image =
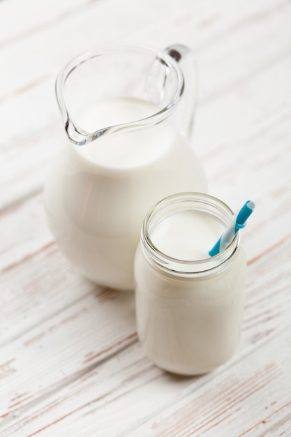
[[[221,253],[200,260],[172,258],[154,245],[151,240],[151,232],[154,228],[165,218],[179,212],[207,214],[220,222],[224,228],[230,225],[234,215],[225,203],[211,195],[202,193],[178,193],[170,195],[151,207],[144,218],[141,240],[142,250],[147,260],[156,268],[174,276],[207,276],[208,274],[214,274],[225,269],[232,262],[234,254],[239,248],[239,232],[237,232],[230,244]]]

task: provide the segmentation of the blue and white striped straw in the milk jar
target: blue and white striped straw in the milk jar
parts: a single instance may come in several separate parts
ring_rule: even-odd
[[[225,232],[223,232],[223,235],[218,239],[216,244],[214,244],[211,251],[209,251],[210,256],[217,255],[218,253],[222,252],[225,247],[230,244],[232,239],[234,238],[234,235],[242,228],[246,226],[246,221],[249,216],[251,216],[251,213],[255,209],[255,204],[251,200],[248,200],[244,206],[241,208],[241,210],[238,212],[237,215],[233,216],[232,223],[225,229]]]

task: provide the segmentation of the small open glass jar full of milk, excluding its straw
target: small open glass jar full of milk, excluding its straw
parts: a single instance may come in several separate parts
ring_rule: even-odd
[[[144,219],[135,254],[137,333],[147,356],[167,371],[211,371],[238,346],[246,276],[239,233],[224,251],[208,254],[232,216],[217,198],[179,193]]]

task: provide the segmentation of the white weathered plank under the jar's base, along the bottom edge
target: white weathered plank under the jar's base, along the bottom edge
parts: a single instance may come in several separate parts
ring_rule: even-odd
[[[159,370],[136,344],[4,421],[4,435],[258,435],[290,405],[290,334],[281,327],[260,348],[196,378]]]

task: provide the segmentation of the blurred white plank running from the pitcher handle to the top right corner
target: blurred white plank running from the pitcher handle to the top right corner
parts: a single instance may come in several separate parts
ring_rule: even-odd
[[[271,10],[242,17],[237,27],[234,24],[211,44],[198,47],[200,99],[204,104],[214,94],[237,88],[239,82],[244,84],[251,75],[290,54],[290,15],[290,3],[277,3]],[[288,70],[285,73],[288,75]],[[272,93],[267,86],[265,91]]]

